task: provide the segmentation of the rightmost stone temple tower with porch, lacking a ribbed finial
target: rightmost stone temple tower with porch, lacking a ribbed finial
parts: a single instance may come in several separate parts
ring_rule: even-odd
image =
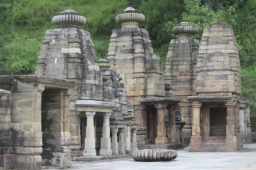
[[[232,28],[213,21],[205,28],[196,64],[196,95],[189,151],[239,151],[240,61]]]

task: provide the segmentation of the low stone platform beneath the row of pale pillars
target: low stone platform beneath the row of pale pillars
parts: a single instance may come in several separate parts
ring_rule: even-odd
[[[132,155],[118,155],[118,156],[96,156],[96,157],[72,157],[73,161],[84,161],[84,162],[93,162],[98,160],[108,160],[108,159],[117,159],[130,157]]]

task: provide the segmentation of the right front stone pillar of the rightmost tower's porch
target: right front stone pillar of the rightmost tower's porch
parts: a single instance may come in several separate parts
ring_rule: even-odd
[[[227,131],[226,131],[226,143],[235,143],[235,108],[236,103],[233,101],[227,101],[225,104],[227,107]]]

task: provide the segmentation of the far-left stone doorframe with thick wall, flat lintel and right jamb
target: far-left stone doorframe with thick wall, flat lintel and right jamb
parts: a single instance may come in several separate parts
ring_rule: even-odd
[[[16,123],[14,117],[11,119],[12,168],[41,169],[41,100],[45,89],[60,89],[60,112],[56,113],[56,122],[52,123],[51,133],[54,133],[54,138],[48,141],[55,147],[47,161],[51,166],[70,167],[69,96],[71,90],[82,83],[37,75],[16,75],[15,79],[14,91],[11,93],[11,114],[19,113],[17,116],[20,116],[20,122]]]

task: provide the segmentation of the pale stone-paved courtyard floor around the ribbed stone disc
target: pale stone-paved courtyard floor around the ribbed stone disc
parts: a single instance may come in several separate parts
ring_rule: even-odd
[[[256,144],[245,144],[239,152],[188,152],[188,147],[177,150],[178,157],[168,162],[138,162],[131,157],[96,162],[72,161],[68,169],[79,170],[145,170],[145,169],[189,169],[189,170],[255,170]]]

